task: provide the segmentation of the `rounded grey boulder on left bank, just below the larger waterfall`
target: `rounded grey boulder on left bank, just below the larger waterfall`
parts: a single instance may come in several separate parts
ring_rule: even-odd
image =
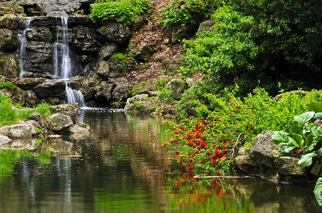
[[[50,131],[62,131],[71,125],[73,125],[71,117],[58,112],[48,117],[46,126]]]

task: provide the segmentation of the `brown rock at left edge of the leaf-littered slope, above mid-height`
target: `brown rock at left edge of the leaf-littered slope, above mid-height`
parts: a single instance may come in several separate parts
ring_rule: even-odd
[[[143,42],[130,41],[128,48],[130,49],[129,55],[137,60],[148,61],[152,56],[152,46]]]

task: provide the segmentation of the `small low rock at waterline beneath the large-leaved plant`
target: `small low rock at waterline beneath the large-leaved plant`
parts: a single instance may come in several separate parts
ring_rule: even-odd
[[[306,175],[306,170],[298,165],[299,158],[282,156],[276,160],[279,166],[278,172],[283,175]]]

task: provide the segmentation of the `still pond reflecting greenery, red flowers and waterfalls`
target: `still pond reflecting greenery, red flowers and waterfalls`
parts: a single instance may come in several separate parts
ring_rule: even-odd
[[[0,212],[320,212],[306,186],[259,179],[183,180],[163,119],[85,110],[87,138],[1,145]]]

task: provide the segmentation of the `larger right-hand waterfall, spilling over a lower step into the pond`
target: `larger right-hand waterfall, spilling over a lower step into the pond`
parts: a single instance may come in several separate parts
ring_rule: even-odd
[[[71,89],[68,80],[72,75],[72,62],[68,48],[68,17],[61,17],[61,42],[58,38],[59,24],[57,23],[56,43],[53,45],[53,66],[54,75],[58,80],[66,82],[66,101],[67,103],[78,103],[82,108],[86,107],[85,100],[81,91]]]

